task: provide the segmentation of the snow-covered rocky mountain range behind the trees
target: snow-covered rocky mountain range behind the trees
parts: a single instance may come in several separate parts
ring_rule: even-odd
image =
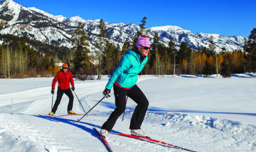
[[[90,48],[94,50],[94,41],[99,34],[97,27],[100,20],[84,20],[79,16],[65,18],[61,15],[54,16],[34,7],[26,8],[12,0],[0,2],[0,23],[4,25],[0,27],[0,34],[13,34],[22,36],[27,34],[29,38],[51,44],[56,41],[59,46],[71,47],[71,39],[74,29],[81,22],[84,29],[88,33],[90,40]],[[114,44],[119,44],[121,47],[128,40],[132,42],[134,35],[139,30],[139,26],[135,24],[124,23],[105,23],[106,33],[109,41]],[[155,32],[159,34],[160,40],[168,45],[172,39],[177,47],[184,41],[193,49],[198,47],[207,47],[210,43],[211,35],[214,36],[214,42],[217,46],[217,51],[225,47],[228,51],[242,49],[244,37],[242,36],[221,36],[219,34],[193,34],[189,30],[182,29],[178,26],[166,25],[158,27],[150,27],[149,37],[151,41]]]

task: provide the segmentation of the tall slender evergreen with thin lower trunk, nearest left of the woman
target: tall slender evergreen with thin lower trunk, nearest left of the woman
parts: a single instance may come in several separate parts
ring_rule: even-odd
[[[101,78],[101,62],[102,62],[102,51],[103,51],[103,47],[104,45],[106,44],[106,26],[105,26],[105,23],[103,21],[103,19],[100,19],[100,22],[99,22],[99,25],[98,25],[98,28],[100,29],[100,34],[97,35],[98,37],[98,40],[95,42],[95,46],[96,48],[99,49],[99,67],[98,67],[98,79]]]

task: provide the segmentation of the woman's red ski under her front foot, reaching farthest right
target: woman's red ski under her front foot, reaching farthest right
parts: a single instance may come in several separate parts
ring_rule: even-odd
[[[186,149],[186,148],[182,148],[182,147],[179,147],[179,146],[175,146],[175,145],[172,145],[172,144],[169,144],[169,143],[165,143],[165,142],[162,142],[162,141],[158,141],[158,140],[150,139],[150,138],[146,138],[146,137],[139,137],[139,136],[123,134],[123,133],[114,133],[114,132],[109,132],[109,133],[117,134],[117,135],[125,136],[125,137],[130,137],[130,138],[134,138],[134,139],[139,139],[139,140],[143,140],[143,141],[153,142],[153,143],[157,143],[157,144],[161,144],[161,145],[165,145],[165,146],[169,146],[169,147],[173,147],[173,148],[177,148],[177,149],[182,149],[182,150],[186,150],[186,151],[196,152],[196,151],[193,151],[193,150],[189,150],[189,149]]]

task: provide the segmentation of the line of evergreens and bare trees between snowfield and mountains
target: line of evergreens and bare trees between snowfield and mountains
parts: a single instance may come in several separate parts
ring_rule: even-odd
[[[88,39],[88,34],[81,23],[72,35],[71,49],[47,45],[39,41],[30,40],[27,35],[15,37],[13,35],[1,35],[5,41],[0,47],[1,76],[8,78],[20,78],[31,76],[53,76],[59,71],[55,63],[66,62],[74,75],[111,75],[119,64],[123,55],[142,34],[148,36],[149,29],[145,27],[146,17],[139,25],[140,30],[134,35],[133,42],[126,41],[123,46],[112,43],[106,35],[106,26],[101,19],[98,28],[100,33],[97,38]],[[94,44],[90,50],[89,41]],[[35,44],[36,43],[36,44]],[[121,49],[122,48],[122,49]],[[165,46],[154,33],[148,62],[143,68],[141,75],[204,75],[221,74],[229,77],[230,74],[255,72],[256,70],[256,28],[251,31],[248,39],[244,39],[244,49],[232,52],[222,48],[216,52],[214,37],[211,36],[207,47],[192,49],[184,41],[179,50],[177,45],[170,40]],[[91,51],[94,55],[88,55]],[[90,60],[98,60],[94,66]]]

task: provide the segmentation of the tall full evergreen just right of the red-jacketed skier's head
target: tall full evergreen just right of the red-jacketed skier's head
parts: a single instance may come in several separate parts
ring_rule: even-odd
[[[85,30],[82,27],[82,23],[79,23],[72,35],[72,50],[74,51],[74,66],[75,70],[87,67],[86,61],[89,61],[88,53],[90,52],[87,48],[89,43],[87,42],[88,37],[86,36]]]

